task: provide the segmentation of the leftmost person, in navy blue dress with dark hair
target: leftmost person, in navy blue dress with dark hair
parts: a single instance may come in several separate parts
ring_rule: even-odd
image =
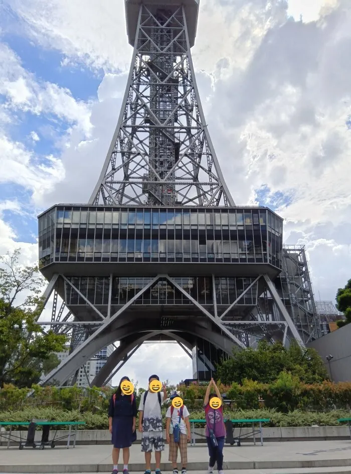
[[[136,401],[134,394],[124,395],[121,391],[121,383],[128,380],[123,377],[119,383],[116,393],[110,400],[108,410],[109,430],[112,434],[112,474],[118,473],[119,451],[123,449],[123,474],[128,474],[129,447],[136,439]],[[130,381],[129,381],[130,382]]]

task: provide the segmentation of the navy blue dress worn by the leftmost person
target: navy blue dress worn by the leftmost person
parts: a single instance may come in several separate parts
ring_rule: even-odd
[[[127,448],[133,442],[133,417],[136,417],[136,401],[131,395],[110,400],[108,417],[112,418],[112,444],[115,448]]]

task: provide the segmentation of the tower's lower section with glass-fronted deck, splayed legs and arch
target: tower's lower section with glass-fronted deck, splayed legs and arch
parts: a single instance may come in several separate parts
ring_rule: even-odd
[[[304,252],[283,249],[282,219],[264,207],[58,205],[39,216],[39,245],[45,302],[54,294],[40,323],[76,341],[42,383],[65,383],[115,341],[93,385],[144,341],[177,341],[206,380],[235,347],[318,334]]]

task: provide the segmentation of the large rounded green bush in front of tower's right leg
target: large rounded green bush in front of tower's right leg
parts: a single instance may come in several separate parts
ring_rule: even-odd
[[[328,379],[316,350],[303,351],[297,344],[287,349],[280,342],[269,344],[265,340],[259,342],[257,349],[235,350],[232,357],[217,367],[218,378],[228,385],[243,384],[244,380],[267,384],[277,380],[281,372],[290,372],[307,384]]]

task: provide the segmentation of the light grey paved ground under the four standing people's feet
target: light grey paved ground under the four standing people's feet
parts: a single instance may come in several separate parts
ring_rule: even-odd
[[[327,472],[351,473],[351,441],[292,441],[270,442],[264,446],[243,444],[240,447],[224,448],[224,468],[235,469],[236,474],[245,470],[250,474],[326,474]],[[168,447],[162,457],[164,473],[170,471]],[[188,470],[207,469],[208,451],[204,445],[188,448]],[[131,447],[130,471],[143,472],[143,453],[140,445]],[[314,468],[311,470],[311,468]],[[44,450],[18,447],[0,448],[0,473],[63,473],[63,472],[108,472],[111,469],[111,447],[107,445],[76,446],[67,449],[57,446]],[[268,469],[268,470],[267,470]],[[282,470],[283,469],[283,470]],[[193,472],[192,472],[193,474]],[[195,474],[195,472],[194,472]]]

